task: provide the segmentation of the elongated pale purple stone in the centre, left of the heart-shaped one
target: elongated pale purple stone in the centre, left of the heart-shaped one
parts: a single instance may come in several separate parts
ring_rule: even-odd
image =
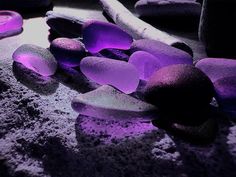
[[[80,63],[80,70],[98,84],[112,85],[127,94],[134,92],[139,84],[137,69],[124,61],[86,57]]]

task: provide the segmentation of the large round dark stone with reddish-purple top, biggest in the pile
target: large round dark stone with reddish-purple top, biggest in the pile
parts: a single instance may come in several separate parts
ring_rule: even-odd
[[[167,115],[174,115],[179,122],[208,107],[214,96],[210,79],[190,65],[172,65],[156,71],[147,82],[145,100],[156,105]],[[181,120],[183,119],[183,120]]]

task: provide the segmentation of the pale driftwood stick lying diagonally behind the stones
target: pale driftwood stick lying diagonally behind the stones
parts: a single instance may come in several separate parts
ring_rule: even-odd
[[[123,30],[135,39],[152,39],[171,45],[193,55],[192,49],[180,39],[160,31],[134,16],[117,0],[100,0],[104,12]]]

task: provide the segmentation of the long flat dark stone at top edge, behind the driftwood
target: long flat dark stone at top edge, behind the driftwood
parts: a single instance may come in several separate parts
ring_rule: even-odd
[[[139,0],[135,10],[140,16],[197,16],[200,17],[201,5],[190,0]]]

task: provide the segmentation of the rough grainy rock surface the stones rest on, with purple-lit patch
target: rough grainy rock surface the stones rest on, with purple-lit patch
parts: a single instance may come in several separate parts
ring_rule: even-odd
[[[95,0],[76,2],[84,9],[97,4]],[[88,2],[91,4],[85,6]],[[42,40],[47,41],[48,35],[44,19],[25,20],[25,24],[20,36],[0,42],[1,177],[236,176],[235,122],[219,119],[216,140],[196,146],[174,138],[150,122],[78,116],[70,103],[81,90],[85,92],[82,87],[87,83],[83,84],[76,71],[58,73],[60,77],[54,80],[60,81],[58,88],[51,89],[47,96],[17,82],[12,72],[13,51],[26,40],[44,43]],[[35,30],[40,35],[34,35]],[[202,45],[188,34],[184,37],[196,56],[202,58]],[[18,77],[24,73],[20,71]]]

